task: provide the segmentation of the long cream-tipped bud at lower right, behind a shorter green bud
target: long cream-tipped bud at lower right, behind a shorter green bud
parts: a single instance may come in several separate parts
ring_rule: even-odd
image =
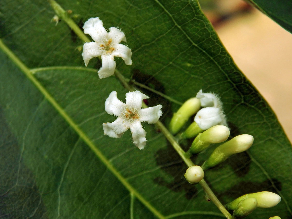
[[[228,210],[234,210],[238,203],[247,198],[256,198],[258,200],[259,208],[271,208],[277,205],[281,201],[281,197],[273,192],[256,192],[245,194],[234,201],[228,203],[226,208]]]

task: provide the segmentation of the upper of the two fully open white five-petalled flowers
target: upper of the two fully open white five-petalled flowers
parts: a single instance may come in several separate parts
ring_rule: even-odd
[[[106,78],[114,74],[116,62],[114,56],[121,57],[126,65],[131,65],[132,51],[128,46],[120,44],[126,42],[126,37],[120,29],[110,27],[109,32],[103,27],[99,18],[89,18],[85,22],[84,33],[89,34],[95,42],[85,43],[82,57],[87,66],[93,57],[101,56],[102,66],[98,71],[99,78]]]

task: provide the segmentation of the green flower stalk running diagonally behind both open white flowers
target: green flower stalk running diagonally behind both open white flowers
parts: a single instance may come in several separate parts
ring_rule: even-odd
[[[85,42],[90,42],[90,40],[87,38],[87,36],[80,30],[80,28],[75,24],[75,22],[68,17],[68,14],[66,11],[54,0],[49,0],[51,6],[55,10],[58,16],[60,16],[67,25],[77,34],[77,36],[80,37]],[[129,91],[134,91],[135,89],[128,83],[128,81],[124,78],[124,76],[116,69],[115,70],[115,76],[119,81],[127,88]],[[145,104],[143,104],[143,107],[147,107]],[[194,166],[194,163],[190,159],[190,155],[186,153],[178,144],[178,142],[175,140],[173,135],[168,131],[168,129],[161,123],[161,121],[158,121],[156,123],[157,127],[161,130],[161,132],[165,135],[167,140],[171,143],[173,148],[178,152],[180,157],[183,159],[185,164],[187,166]],[[219,210],[225,215],[227,219],[233,219],[233,217],[230,215],[230,213],[226,210],[226,208],[221,204],[221,202],[218,200],[218,198],[215,196],[215,194],[212,192],[211,188],[207,185],[205,180],[201,180],[200,185],[203,187],[204,191],[208,195],[208,197],[213,201],[213,203],[219,208]]]

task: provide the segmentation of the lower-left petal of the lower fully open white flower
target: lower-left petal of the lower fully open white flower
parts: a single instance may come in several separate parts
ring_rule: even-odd
[[[103,123],[103,132],[111,138],[121,138],[124,132],[129,128],[123,119],[117,118],[116,121]]]

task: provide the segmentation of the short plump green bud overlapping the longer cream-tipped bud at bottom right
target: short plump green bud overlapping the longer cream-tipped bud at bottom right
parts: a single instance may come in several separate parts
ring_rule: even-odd
[[[258,206],[258,201],[256,198],[247,198],[238,203],[233,213],[235,218],[245,218]]]

